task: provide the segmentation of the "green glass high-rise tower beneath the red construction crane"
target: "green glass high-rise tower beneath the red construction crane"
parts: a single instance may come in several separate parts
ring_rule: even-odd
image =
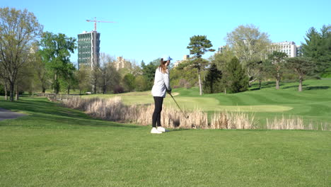
[[[100,62],[100,33],[93,30],[91,32],[83,31],[78,35],[78,65],[98,67]]]

